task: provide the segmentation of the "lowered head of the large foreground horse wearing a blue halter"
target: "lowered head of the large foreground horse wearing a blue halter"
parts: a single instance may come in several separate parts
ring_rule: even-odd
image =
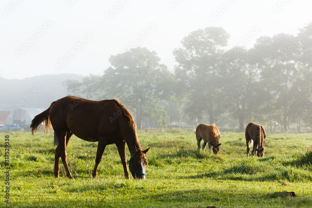
[[[138,178],[145,180],[145,167],[147,165],[145,154],[149,151],[149,148],[146,150],[137,149],[131,155],[129,170],[134,179]]]

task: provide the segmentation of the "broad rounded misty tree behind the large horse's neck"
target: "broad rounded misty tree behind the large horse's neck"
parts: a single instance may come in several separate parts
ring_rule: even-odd
[[[134,111],[139,129],[142,120],[149,116],[159,125],[166,125],[166,113],[159,101],[170,98],[174,79],[166,66],[159,63],[156,52],[138,47],[109,60],[112,66],[105,70],[102,85],[105,97],[116,96]]]

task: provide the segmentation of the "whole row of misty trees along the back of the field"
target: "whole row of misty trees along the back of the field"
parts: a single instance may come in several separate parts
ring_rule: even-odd
[[[139,128],[153,118],[168,123],[239,126],[251,121],[286,131],[312,124],[312,23],[294,35],[262,36],[253,48],[225,50],[230,35],[220,27],[191,32],[173,51],[174,73],[154,51],[134,48],[111,56],[103,76],[67,80],[71,95],[118,97]]]

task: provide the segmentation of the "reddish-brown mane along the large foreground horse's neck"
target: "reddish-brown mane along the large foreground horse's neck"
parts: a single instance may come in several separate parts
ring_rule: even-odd
[[[128,123],[129,123],[129,129],[128,129],[128,132],[129,132],[129,135],[130,135],[130,138],[134,138],[135,140],[137,140],[137,144],[141,151],[141,145],[140,145],[140,142],[139,142],[139,139],[138,139],[138,136],[137,136],[137,132],[136,132],[136,124],[134,122],[134,119],[132,117],[132,115],[130,114],[130,112],[128,111],[128,109],[124,106],[124,104],[121,103],[121,101],[118,99],[118,98],[113,98],[112,101],[120,108],[120,110],[124,113],[124,116],[126,117],[126,119],[128,120]],[[140,154],[140,161],[142,161],[142,154]]]

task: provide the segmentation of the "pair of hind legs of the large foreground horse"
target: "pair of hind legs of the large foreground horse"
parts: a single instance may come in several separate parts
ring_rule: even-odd
[[[59,169],[60,169],[60,157],[62,158],[62,162],[66,171],[66,176],[69,179],[72,179],[71,172],[69,171],[68,164],[67,164],[67,153],[66,153],[66,146],[68,145],[69,139],[73,135],[69,130],[57,132],[57,139],[59,144],[55,150],[55,162],[54,162],[54,176],[56,178],[59,177]]]

